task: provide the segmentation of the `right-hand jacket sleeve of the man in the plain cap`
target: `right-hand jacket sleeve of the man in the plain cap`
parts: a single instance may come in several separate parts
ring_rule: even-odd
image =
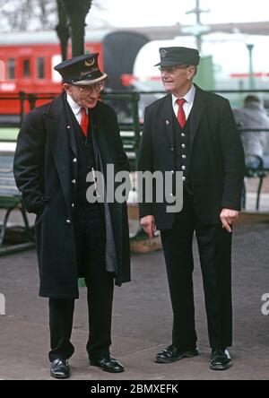
[[[228,100],[224,101],[221,109],[220,139],[224,161],[221,208],[239,211],[245,174],[245,155]]]

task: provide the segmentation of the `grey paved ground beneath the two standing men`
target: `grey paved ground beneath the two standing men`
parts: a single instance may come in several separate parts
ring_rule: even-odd
[[[171,309],[162,252],[132,255],[133,281],[115,290],[112,352],[126,372],[110,375],[87,363],[85,288],[76,301],[73,379],[180,380],[269,379],[269,316],[261,297],[269,293],[269,224],[240,225],[234,233],[234,365],[225,372],[208,368],[208,347],[201,272],[195,246],[195,308],[200,356],[173,364],[152,361],[170,343]],[[0,379],[49,379],[48,305],[38,298],[35,251],[0,257],[0,293],[6,315],[0,316]]]

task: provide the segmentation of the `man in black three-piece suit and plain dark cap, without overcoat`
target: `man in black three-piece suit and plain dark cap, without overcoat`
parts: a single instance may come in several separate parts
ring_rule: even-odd
[[[195,231],[204,281],[210,367],[230,368],[232,343],[231,225],[239,217],[244,152],[227,99],[193,83],[200,56],[194,48],[160,48],[161,78],[169,94],[145,109],[138,169],[183,172],[183,208],[140,203],[150,238],[161,230],[173,308],[172,344],[157,354],[168,363],[196,349],[192,243]],[[157,66],[157,65],[156,65]],[[172,193],[171,193],[172,194]]]

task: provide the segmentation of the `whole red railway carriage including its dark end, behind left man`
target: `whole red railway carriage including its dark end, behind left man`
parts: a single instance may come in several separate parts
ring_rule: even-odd
[[[108,88],[118,90],[121,76],[133,72],[135,56],[147,41],[144,35],[136,32],[90,30],[86,32],[85,51],[100,53],[100,68],[109,76]],[[58,94],[61,91],[61,76],[54,71],[54,66],[61,62],[60,54],[55,31],[1,35],[0,116],[20,113],[19,99],[6,99],[20,91],[35,94]],[[68,57],[71,57],[71,48]],[[37,105],[41,103],[44,100],[39,100]]]

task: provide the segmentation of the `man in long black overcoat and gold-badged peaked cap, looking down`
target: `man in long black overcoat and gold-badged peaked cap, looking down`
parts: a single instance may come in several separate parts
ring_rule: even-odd
[[[117,285],[130,281],[126,203],[90,203],[88,193],[100,195],[95,170],[106,180],[108,165],[117,173],[129,171],[129,164],[117,116],[99,100],[107,74],[100,72],[98,54],[76,56],[55,69],[64,92],[26,117],[14,157],[17,186],[27,210],[37,214],[39,295],[49,298],[50,374],[70,376],[67,359],[74,353],[70,338],[81,276],[88,288],[90,363],[122,372],[109,346],[114,280]]]

